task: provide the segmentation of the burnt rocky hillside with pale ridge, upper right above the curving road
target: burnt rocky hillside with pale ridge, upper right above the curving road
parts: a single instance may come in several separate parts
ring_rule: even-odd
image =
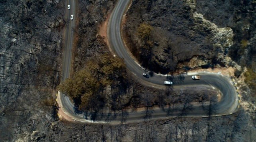
[[[254,13],[250,0],[133,0],[123,35],[135,58],[155,72],[232,66],[239,76],[240,66],[255,68]],[[151,27],[147,39],[138,33],[143,23]]]

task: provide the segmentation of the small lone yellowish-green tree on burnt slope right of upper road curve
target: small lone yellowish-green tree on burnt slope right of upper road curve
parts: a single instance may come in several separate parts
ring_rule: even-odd
[[[137,28],[137,35],[139,35],[141,39],[149,40],[152,29],[152,26],[147,25],[146,23],[141,23],[141,25]]]

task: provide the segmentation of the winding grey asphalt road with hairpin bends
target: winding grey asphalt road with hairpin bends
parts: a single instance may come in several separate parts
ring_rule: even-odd
[[[150,84],[154,86],[163,86],[163,82],[166,80],[166,76],[160,74],[154,74],[153,77],[149,79],[144,78],[142,74],[147,72],[147,70],[143,69],[139,64],[137,64],[131,56],[129,56],[128,52],[126,51],[125,45],[121,38],[121,20],[123,14],[129,4],[129,0],[119,0],[117,5],[115,6],[111,17],[108,23],[108,39],[111,47],[114,49],[116,54],[121,58],[124,58],[127,68],[131,70],[139,80],[141,80],[144,84]],[[70,5],[71,8],[74,9],[73,6]],[[74,15],[74,14],[73,14]],[[74,15],[75,18],[75,15]],[[75,20],[75,19],[74,19]],[[74,22],[73,22],[74,23]],[[70,26],[68,27],[67,35],[70,35],[70,39],[72,39],[72,29]],[[69,36],[68,36],[69,37]],[[71,40],[72,41],[72,40]],[[70,42],[71,42],[70,41]],[[67,45],[69,45],[67,43]],[[70,48],[71,48],[70,44]],[[71,53],[70,53],[71,56]],[[64,59],[64,63],[71,62]],[[63,68],[63,79],[68,78],[70,70],[70,63],[69,66]],[[65,75],[66,74],[66,75]],[[211,88],[215,88],[219,90],[223,97],[222,99],[216,103],[217,110],[215,111],[214,115],[211,116],[220,116],[220,115],[228,115],[232,114],[236,111],[238,107],[238,94],[236,93],[235,87],[233,86],[232,81],[227,78],[226,76],[222,76],[220,74],[213,74],[207,72],[197,73],[201,76],[201,80],[192,80],[192,74],[185,75],[183,80],[180,80],[178,76],[174,77],[174,88],[187,88],[187,87],[202,87],[208,86]],[[106,123],[106,122],[120,122],[123,120],[122,114],[118,113],[115,116],[113,114],[104,114],[102,117],[99,117],[96,121],[90,121],[90,119],[85,119],[82,114],[77,114],[74,112],[74,105],[65,95],[61,95],[61,104],[63,105],[63,111],[72,117],[76,121],[81,122],[98,122],[98,123]],[[151,114],[152,119],[164,118],[164,117],[176,117],[180,114],[180,111],[173,111],[172,113],[167,115],[166,111],[163,111],[160,108],[154,108],[153,113]],[[188,111],[186,116],[184,117],[208,117],[209,112],[203,110],[201,104],[193,104],[193,110]],[[126,122],[135,122],[140,121],[145,118],[145,111],[137,111],[137,112],[129,112],[129,115],[125,116]]]

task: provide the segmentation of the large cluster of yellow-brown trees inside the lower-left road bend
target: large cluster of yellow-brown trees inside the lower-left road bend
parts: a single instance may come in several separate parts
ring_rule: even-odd
[[[123,59],[103,54],[89,60],[85,69],[66,79],[58,88],[75,100],[80,111],[98,112],[110,104],[114,109],[113,104],[121,100],[128,83]]]

